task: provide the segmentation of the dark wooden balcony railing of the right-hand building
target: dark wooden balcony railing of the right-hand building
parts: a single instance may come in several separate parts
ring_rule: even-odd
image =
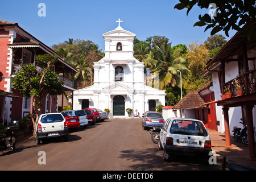
[[[232,97],[237,97],[235,80],[241,85],[243,95],[248,95],[256,92],[256,69],[249,71],[237,78],[230,80],[224,84],[224,88],[232,93]]]

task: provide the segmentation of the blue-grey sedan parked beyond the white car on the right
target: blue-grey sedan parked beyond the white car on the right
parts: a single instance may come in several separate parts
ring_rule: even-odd
[[[147,128],[152,128],[153,125],[162,127],[164,125],[163,115],[156,111],[146,111],[143,115],[142,127],[146,130]]]

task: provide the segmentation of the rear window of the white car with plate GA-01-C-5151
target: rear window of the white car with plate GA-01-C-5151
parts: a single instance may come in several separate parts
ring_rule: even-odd
[[[201,122],[174,120],[172,122],[171,134],[207,136],[207,131]]]

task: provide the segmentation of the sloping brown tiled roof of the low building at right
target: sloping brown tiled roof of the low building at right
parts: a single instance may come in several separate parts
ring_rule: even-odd
[[[174,105],[173,109],[197,108],[205,104],[203,98],[196,91],[189,92],[182,100]]]

